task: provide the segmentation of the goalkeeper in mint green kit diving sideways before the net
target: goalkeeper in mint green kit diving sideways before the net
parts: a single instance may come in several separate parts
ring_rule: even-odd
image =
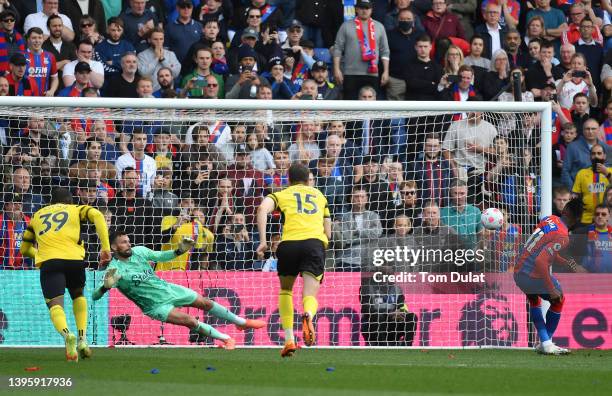
[[[151,267],[151,262],[164,262],[190,251],[195,241],[183,238],[176,250],[153,251],[144,246],[134,246],[125,232],[114,232],[110,236],[110,246],[114,253],[104,282],[93,294],[94,300],[116,287],[152,319],[161,322],[185,326],[199,334],[220,340],[221,348],[234,349],[236,342],[229,335],[221,333],[214,327],[199,322],[193,316],[180,311],[179,307],[203,309],[209,314],[227,320],[239,330],[260,329],[265,322],[244,319],[230,312],[227,308],[203,297],[186,287],[160,279]]]

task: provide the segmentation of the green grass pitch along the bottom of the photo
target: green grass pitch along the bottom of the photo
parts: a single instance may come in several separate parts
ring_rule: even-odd
[[[40,370],[24,370],[32,366]],[[0,348],[0,394],[9,390],[8,377],[25,376],[70,377],[73,391],[16,393],[611,395],[612,351],[301,349],[281,359],[278,349],[96,348],[93,359],[74,364],[60,349]]]

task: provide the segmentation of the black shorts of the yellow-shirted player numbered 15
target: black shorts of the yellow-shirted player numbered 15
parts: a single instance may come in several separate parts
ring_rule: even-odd
[[[279,276],[298,276],[302,272],[314,275],[320,281],[325,272],[325,246],[319,239],[283,241],[276,250]]]

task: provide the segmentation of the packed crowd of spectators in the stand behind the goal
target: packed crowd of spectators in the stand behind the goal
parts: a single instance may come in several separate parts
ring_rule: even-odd
[[[584,256],[599,257],[585,265],[611,271],[611,12],[609,0],[0,0],[0,96],[550,101],[554,127],[551,181],[535,114],[0,120],[0,268],[32,267],[23,226],[69,185],[135,243],[196,239],[197,254],[160,269],[273,269],[274,252],[255,260],[254,213],[301,161],[332,212],[330,269],[409,238],[494,246],[487,269],[509,270],[552,182],[556,209],[566,193],[584,202]],[[488,206],[506,215],[499,232],[480,227]]]

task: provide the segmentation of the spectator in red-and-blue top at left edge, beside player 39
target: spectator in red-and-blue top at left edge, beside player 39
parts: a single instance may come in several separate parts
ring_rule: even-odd
[[[4,207],[0,216],[0,270],[34,269],[31,258],[19,252],[23,234],[30,222],[23,209],[19,193],[5,192],[2,198]]]

